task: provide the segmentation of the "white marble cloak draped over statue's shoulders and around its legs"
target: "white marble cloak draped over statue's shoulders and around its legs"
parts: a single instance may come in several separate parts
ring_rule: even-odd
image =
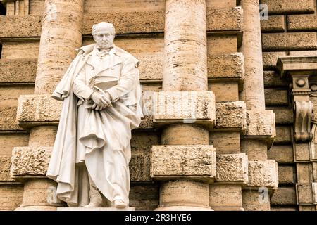
[[[134,85],[112,103],[113,107],[97,111],[89,108],[89,103],[79,104],[81,99],[73,93],[73,82],[95,46],[78,49],[79,53],[52,94],[56,100],[63,101],[63,107],[46,176],[58,183],[56,195],[70,207],[89,203],[87,172],[108,200],[114,200],[118,189],[130,190],[131,130],[139,127],[143,117],[138,69]],[[122,58],[133,60],[136,67],[139,65],[128,52],[114,48]],[[124,66],[125,60],[120,63]],[[134,105],[135,110],[130,105]],[[86,173],[81,163],[85,163]],[[128,194],[123,197],[128,203]]]

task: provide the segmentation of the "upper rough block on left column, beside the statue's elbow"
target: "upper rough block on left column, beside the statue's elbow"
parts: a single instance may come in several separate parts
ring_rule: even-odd
[[[19,98],[17,120],[22,127],[58,124],[62,103],[48,94],[22,95]]]

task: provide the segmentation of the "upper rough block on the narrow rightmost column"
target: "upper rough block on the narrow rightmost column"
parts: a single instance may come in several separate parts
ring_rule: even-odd
[[[249,137],[273,139],[276,136],[275,115],[272,110],[247,110]]]

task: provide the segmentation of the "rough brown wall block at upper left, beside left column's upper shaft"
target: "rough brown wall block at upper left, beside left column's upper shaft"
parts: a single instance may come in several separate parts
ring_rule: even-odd
[[[1,37],[39,37],[42,15],[0,15]]]

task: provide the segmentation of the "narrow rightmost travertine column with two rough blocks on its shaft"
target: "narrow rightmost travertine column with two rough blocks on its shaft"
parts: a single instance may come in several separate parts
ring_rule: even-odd
[[[242,202],[245,210],[270,210],[269,196],[263,196],[263,200],[260,200],[261,194],[268,195],[268,191],[259,191],[261,186],[275,188],[274,186],[277,185],[277,175],[275,176],[277,165],[272,160],[267,160],[267,150],[268,147],[271,147],[275,136],[275,119],[272,111],[265,110],[259,0],[242,0],[242,7],[244,11],[243,53],[245,57],[243,96],[247,105],[248,119],[244,150],[249,159],[249,184],[242,193]],[[256,173],[261,170],[260,165],[262,170],[266,171],[264,173],[274,177],[271,181],[271,187],[267,186],[270,184],[269,181],[264,182],[258,179],[259,182],[254,182]],[[254,169],[251,170],[251,167]]]

